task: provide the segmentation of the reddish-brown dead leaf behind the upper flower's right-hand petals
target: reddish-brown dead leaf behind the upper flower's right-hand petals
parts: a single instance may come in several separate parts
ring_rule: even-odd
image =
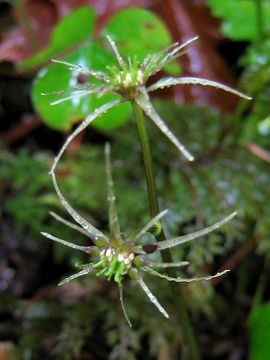
[[[217,51],[216,44],[220,39],[218,24],[204,2],[159,1],[158,9],[176,41],[184,42],[199,35],[199,40],[190,45],[187,55],[181,58],[184,75],[215,80],[235,87],[236,81]],[[221,90],[202,86],[174,87],[172,94],[179,102],[196,101],[211,105],[221,112],[230,112],[238,101],[231,94],[222,94]]]

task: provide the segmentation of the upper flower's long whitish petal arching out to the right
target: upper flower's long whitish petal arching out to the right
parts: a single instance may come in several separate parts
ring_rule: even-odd
[[[155,84],[149,86],[147,88],[147,91],[163,89],[164,87],[169,87],[169,86],[173,86],[173,85],[189,85],[189,84],[202,85],[202,86],[213,86],[217,89],[221,89],[221,90],[230,92],[230,93],[237,95],[239,97],[242,97],[244,99],[247,99],[247,100],[252,99],[250,96],[245,95],[242,92],[232,89],[231,87],[221,84],[217,81],[201,79],[201,78],[196,78],[196,77],[188,77],[188,76],[180,77],[180,78],[167,77],[167,78],[161,79],[161,80],[157,81]]]

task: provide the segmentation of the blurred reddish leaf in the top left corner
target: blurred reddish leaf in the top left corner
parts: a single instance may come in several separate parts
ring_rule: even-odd
[[[39,0],[25,1],[29,26],[25,24],[21,9],[14,8],[17,22],[6,32],[0,44],[0,61],[19,62],[45,47],[53,26],[71,10],[83,5],[92,6],[99,16],[97,30],[100,31],[114,12],[125,6],[148,7],[154,0]]]

